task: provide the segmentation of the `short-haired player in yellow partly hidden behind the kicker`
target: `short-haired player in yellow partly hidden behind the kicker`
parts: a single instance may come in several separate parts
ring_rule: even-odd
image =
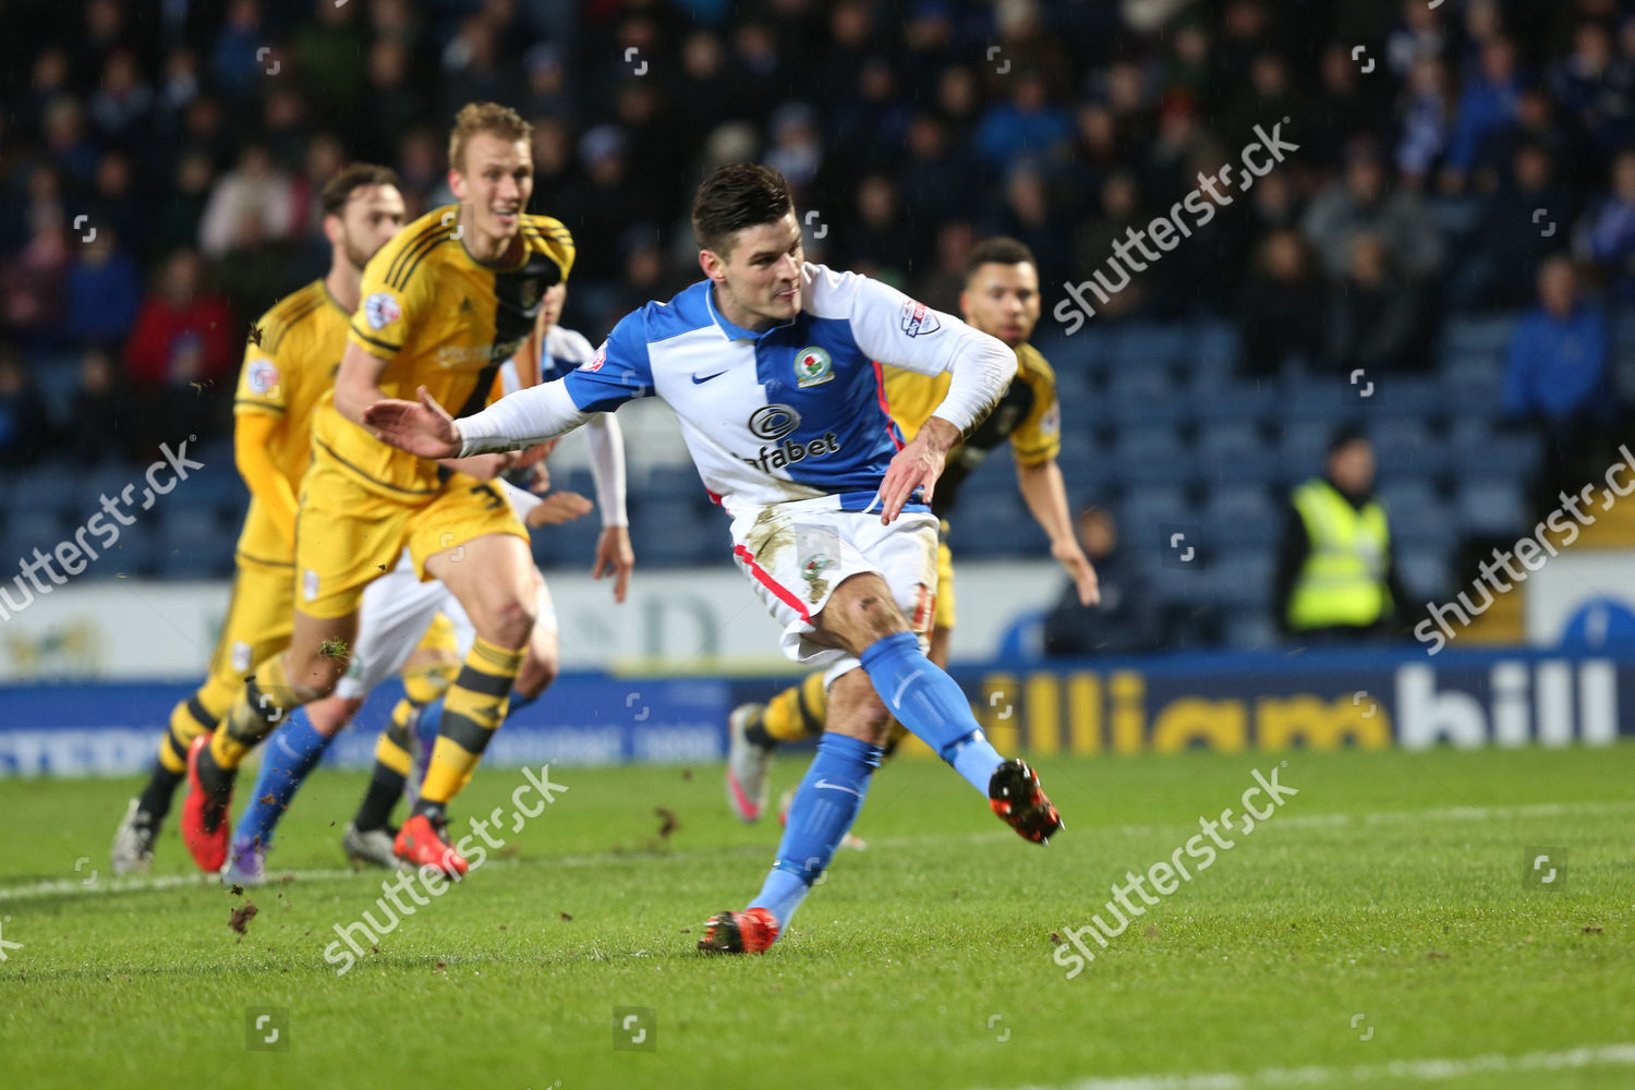
[[[1017,485],[1033,518],[1050,536],[1051,556],[1077,583],[1079,601],[1094,605],[1099,598],[1095,569],[1074,538],[1068,490],[1056,466],[1056,454],[1061,451],[1056,374],[1045,356],[1027,343],[1038,324],[1038,265],[1033,253],[1015,239],[979,242],[966,261],[960,310],[973,327],[1015,350],[1017,376],[992,413],[948,451],[947,467],[937,479],[932,497],[932,511],[943,520],[943,541],[937,549],[937,596],[927,657],[938,667],[948,665],[948,637],[953,632],[953,556],[948,552],[947,518],[958,498],[960,484],[989,451],[1007,440],[1015,456]],[[950,376],[924,376],[899,368],[886,368],[885,374],[891,418],[903,430],[903,440],[912,443],[921,425],[948,392]],[[760,820],[765,811],[767,768],[778,744],[819,737],[827,714],[821,670],[765,704],[741,704],[732,709],[726,796],[728,806],[741,820]],[[893,740],[903,734],[903,726],[896,726]]]

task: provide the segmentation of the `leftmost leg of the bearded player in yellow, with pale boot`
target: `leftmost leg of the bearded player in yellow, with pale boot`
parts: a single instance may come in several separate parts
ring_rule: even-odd
[[[209,662],[209,677],[170,711],[170,726],[159,742],[159,758],[142,793],[131,801],[114,833],[113,873],[146,871],[154,842],[170,812],[177,788],[188,778],[188,748],[209,734],[232,706],[252,662],[289,644],[294,603],[289,569],[239,561],[221,639]]]

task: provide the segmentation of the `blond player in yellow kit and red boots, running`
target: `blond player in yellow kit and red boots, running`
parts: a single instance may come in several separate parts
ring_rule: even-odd
[[[448,842],[446,804],[504,722],[533,631],[528,531],[494,485],[397,451],[356,422],[373,402],[419,391],[461,412],[487,404],[494,374],[533,332],[541,296],[567,278],[574,242],[558,221],[525,212],[531,127],[513,109],[466,105],[448,162],[459,203],[409,224],[365,268],[334,394],[314,417],[289,649],[252,668],[209,744],[190,750],[181,832],[201,868],[226,858],[244,755],[294,708],[334,691],[365,587],[407,549],[422,579],[441,580],[459,600],[476,639],[445,696],[420,801],[396,848],[415,866],[466,871]],[[479,476],[492,476],[494,459],[518,464],[517,454],[484,459]],[[628,533],[605,533],[597,565],[628,570],[620,567],[628,556]]]

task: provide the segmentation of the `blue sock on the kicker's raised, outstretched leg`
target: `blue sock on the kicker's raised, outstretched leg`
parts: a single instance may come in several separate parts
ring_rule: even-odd
[[[986,797],[1004,758],[976,726],[960,685],[925,657],[919,639],[912,632],[876,639],[862,659],[886,711]]]

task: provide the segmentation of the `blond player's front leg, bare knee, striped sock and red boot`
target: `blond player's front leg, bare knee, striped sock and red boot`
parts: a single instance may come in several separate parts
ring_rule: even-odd
[[[513,534],[481,534],[425,561],[471,618],[476,639],[443,698],[437,747],[414,814],[397,833],[397,855],[415,866],[464,874],[448,842],[448,801],[471,780],[494,730],[505,721],[538,613],[528,544]]]

